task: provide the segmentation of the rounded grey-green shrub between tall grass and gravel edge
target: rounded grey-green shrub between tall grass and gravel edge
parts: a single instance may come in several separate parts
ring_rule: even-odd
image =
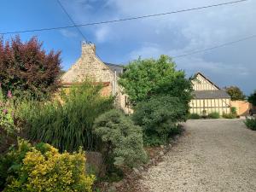
[[[129,117],[117,109],[99,116],[94,132],[102,139],[105,157],[113,157],[115,166],[137,166],[147,160],[143,149],[143,132]]]

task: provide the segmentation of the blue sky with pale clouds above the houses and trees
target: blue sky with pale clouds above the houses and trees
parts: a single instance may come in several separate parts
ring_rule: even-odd
[[[61,0],[76,24],[191,9],[232,0]],[[1,0],[0,33],[70,26],[57,0]],[[256,1],[236,3],[96,26],[82,26],[87,41],[96,44],[102,61],[126,65],[142,58],[183,55],[198,49],[256,35]],[[8,40],[14,37],[4,35]],[[81,54],[84,40],[76,28],[20,33],[23,41],[37,36],[44,49],[61,50],[67,70]],[[220,87],[236,85],[247,95],[256,90],[256,38],[173,60],[187,76],[204,73]]]

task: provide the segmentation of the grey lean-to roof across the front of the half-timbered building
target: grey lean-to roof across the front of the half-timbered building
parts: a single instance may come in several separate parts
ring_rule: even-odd
[[[224,99],[230,98],[230,95],[224,90],[195,90],[193,91],[195,99]]]

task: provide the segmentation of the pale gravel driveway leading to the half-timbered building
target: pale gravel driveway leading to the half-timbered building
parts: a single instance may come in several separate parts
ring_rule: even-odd
[[[256,191],[256,131],[240,119],[189,120],[158,166],[143,173],[142,192]]]

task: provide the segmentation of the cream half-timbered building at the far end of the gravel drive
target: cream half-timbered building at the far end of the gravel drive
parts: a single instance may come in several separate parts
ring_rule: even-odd
[[[189,103],[190,113],[230,113],[230,96],[225,90],[220,89],[202,73],[196,73],[192,83],[194,99]]]

